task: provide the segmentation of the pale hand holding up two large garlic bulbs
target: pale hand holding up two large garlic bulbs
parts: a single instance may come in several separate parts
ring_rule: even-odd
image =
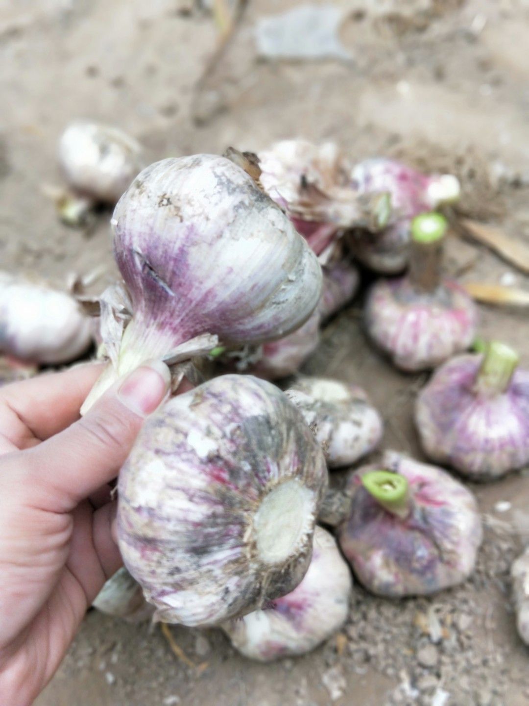
[[[159,361],[80,419],[96,364],[0,389],[0,704],[30,706],[120,566],[109,482],[169,390]]]

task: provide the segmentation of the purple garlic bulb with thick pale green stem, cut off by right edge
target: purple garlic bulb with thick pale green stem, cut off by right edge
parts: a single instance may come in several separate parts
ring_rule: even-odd
[[[491,341],[434,372],[415,402],[425,453],[473,480],[496,479],[529,462],[529,371]]]

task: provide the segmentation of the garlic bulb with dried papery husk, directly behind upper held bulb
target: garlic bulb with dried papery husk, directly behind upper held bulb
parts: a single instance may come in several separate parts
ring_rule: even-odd
[[[342,229],[377,231],[387,224],[387,193],[360,195],[351,189],[351,164],[334,143],[281,140],[257,156],[265,191],[317,255],[333,246]]]

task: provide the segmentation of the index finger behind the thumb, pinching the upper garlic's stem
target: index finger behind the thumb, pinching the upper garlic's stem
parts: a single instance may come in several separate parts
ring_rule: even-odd
[[[28,448],[66,429],[102,371],[99,363],[37,376],[0,390],[0,431],[16,448]]]

